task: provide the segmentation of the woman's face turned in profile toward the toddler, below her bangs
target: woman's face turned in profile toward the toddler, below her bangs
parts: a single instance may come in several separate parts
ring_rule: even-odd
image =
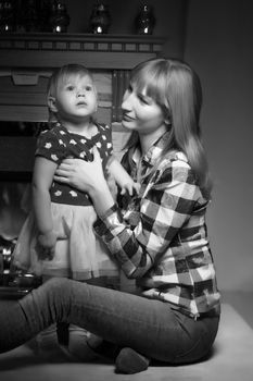
[[[129,85],[123,97],[124,127],[137,131],[139,135],[148,135],[166,130],[162,108],[147,95],[147,90],[139,91],[135,85]]]

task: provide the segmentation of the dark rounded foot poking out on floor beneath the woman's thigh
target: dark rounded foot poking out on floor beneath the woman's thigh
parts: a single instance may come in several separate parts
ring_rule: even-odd
[[[115,372],[134,374],[147,370],[150,359],[131,348],[123,348],[115,361]]]

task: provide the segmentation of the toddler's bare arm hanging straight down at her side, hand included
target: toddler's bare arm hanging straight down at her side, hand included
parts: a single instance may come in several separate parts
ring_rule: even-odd
[[[51,216],[51,199],[49,189],[58,164],[43,157],[36,157],[33,175],[33,201],[35,219],[38,226],[38,244],[41,259],[52,258],[56,243]]]

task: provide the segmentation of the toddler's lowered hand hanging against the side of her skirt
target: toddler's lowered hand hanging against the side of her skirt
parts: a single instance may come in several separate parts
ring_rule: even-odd
[[[50,231],[38,235],[36,249],[38,251],[39,259],[53,259],[56,238],[58,236],[54,231]]]

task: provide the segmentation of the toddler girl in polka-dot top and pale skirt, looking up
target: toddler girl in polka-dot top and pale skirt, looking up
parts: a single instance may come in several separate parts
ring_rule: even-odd
[[[111,128],[93,120],[97,90],[86,67],[68,64],[58,70],[49,81],[47,98],[56,123],[38,138],[34,207],[18,236],[13,263],[41,275],[43,281],[64,276],[117,287],[118,267],[102,241],[96,238],[97,216],[90,197],[67,184],[55,183],[53,175],[65,158],[92,161],[96,147],[105,176],[113,177],[122,193],[132,194],[138,185],[113,157]],[[56,336],[55,327],[50,329],[48,337]],[[69,330],[68,344],[71,332],[76,330]]]

